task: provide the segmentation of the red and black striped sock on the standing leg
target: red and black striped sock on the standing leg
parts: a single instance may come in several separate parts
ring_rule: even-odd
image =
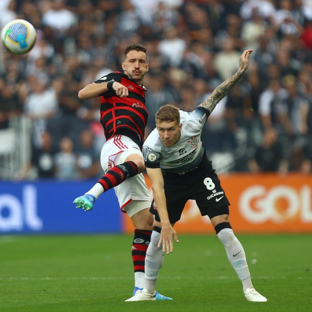
[[[132,244],[132,261],[134,272],[144,272],[145,256],[147,247],[151,241],[152,231],[134,230],[134,239]]]

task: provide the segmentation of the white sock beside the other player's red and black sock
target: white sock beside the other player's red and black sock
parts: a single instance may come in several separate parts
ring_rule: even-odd
[[[158,272],[163,265],[163,256],[165,254],[163,248],[157,246],[159,239],[160,233],[153,231],[145,257],[144,288],[150,293],[153,293],[156,288]]]

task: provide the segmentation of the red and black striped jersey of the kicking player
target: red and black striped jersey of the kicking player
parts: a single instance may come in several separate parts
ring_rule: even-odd
[[[114,71],[94,83],[117,81],[128,88],[129,96],[119,97],[115,90],[108,90],[101,97],[101,123],[106,140],[115,134],[130,137],[142,149],[148,112],[145,107],[145,87],[126,74]]]

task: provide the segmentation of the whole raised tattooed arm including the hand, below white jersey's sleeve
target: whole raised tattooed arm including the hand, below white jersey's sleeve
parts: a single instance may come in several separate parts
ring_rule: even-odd
[[[236,84],[238,80],[241,79],[244,72],[249,65],[249,56],[252,50],[245,50],[241,57],[239,58],[239,69],[238,71],[229,79],[222,82],[221,85],[218,85],[217,88],[212,92],[212,94],[198,106],[202,106],[209,110],[210,114],[216,107],[216,105],[227,95],[227,93],[232,89],[233,85]]]

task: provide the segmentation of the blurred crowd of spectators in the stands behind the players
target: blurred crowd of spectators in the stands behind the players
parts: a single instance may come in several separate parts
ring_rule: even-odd
[[[146,135],[160,106],[194,110],[251,48],[203,131],[208,157],[218,173],[312,172],[311,0],[1,0],[1,28],[16,18],[37,29],[29,53],[2,51],[0,65],[0,129],[14,114],[33,121],[19,178],[101,175],[100,99],[78,91],[121,71],[132,43],[148,49]]]

